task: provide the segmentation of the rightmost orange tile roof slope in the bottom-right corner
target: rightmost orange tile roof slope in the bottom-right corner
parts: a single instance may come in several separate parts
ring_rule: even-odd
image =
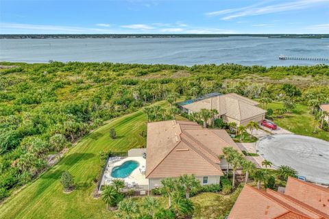
[[[329,189],[289,177],[284,194],[329,215]]]

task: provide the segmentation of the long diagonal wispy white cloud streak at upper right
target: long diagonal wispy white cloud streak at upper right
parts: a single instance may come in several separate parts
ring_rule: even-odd
[[[254,16],[260,14],[272,14],[278,12],[287,12],[291,10],[302,10],[306,8],[313,7],[314,5],[320,5],[321,3],[328,3],[329,0],[299,0],[286,3],[275,3],[272,5],[266,5],[260,7],[260,4],[267,3],[263,1],[261,3],[250,5],[243,8],[233,8],[227,10],[220,10],[217,12],[208,12],[207,16],[219,16],[225,14],[221,20],[230,20],[233,18],[239,18],[243,16]]]

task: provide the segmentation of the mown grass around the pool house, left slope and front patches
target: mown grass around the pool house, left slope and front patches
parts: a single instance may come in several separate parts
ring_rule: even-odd
[[[178,120],[182,120],[180,116]],[[110,129],[114,127],[118,138],[112,140]],[[62,160],[12,195],[0,205],[0,218],[114,218],[101,198],[92,196],[96,185],[93,179],[101,172],[99,151],[125,152],[145,146],[139,133],[146,129],[146,116],[140,110],[111,120],[90,133],[69,150]],[[75,179],[77,188],[71,194],[62,192],[60,176],[68,170]],[[167,206],[167,198],[158,197]],[[195,203],[195,218],[218,218],[228,213],[236,196],[204,193],[192,198]],[[143,198],[136,198],[142,201]]]

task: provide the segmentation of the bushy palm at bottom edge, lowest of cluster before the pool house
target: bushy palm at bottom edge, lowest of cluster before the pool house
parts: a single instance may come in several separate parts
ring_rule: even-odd
[[[186,216],[191,216],[193,214],[194,205],[189,199],[177,193],[173,198],[171,209],[175,213],[176,218],[186,218]]]

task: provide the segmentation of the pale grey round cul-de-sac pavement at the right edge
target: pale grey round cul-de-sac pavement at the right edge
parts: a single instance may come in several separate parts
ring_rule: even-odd
[[[298,175],[329,185],[329,142],[297,135],[265,136],[256,143],[258,154],[274,166],[291,166]]]

